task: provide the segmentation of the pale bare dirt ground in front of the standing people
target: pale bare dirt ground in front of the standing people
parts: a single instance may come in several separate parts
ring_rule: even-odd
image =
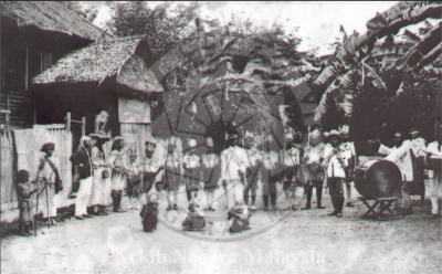
[[[207,213],[214,224],[206,232],[181,232],[186,210],[165,211],[165,201],[154,233],[143,232],[137,210],[69,220],[3,239],[1,273],[442,273],[442,221],[429,204],[415,200],[414,214],[380,222],[360,218],[360,201],[327,217],[324,200],[325,210],[314,198],[312,210],[253,212],[252,230],[235,235],[224,233],[222,209]]]

